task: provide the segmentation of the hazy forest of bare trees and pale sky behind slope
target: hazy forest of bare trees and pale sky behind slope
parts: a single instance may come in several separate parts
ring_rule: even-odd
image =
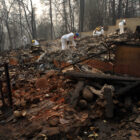
[[[132,17],[140,17],[140,0],[0,0],[0,50]]]

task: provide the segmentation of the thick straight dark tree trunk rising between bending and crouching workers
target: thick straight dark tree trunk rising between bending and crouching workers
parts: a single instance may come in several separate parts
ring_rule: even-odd
[[[80,16],[79,16],[80,32],[83,32],[83,28],[84,28],[84,10],[85,10],[85,0],[80,0]]]

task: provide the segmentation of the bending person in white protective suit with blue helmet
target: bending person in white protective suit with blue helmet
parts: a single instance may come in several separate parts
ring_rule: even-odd
[[[69,34],[66,34],[66,35],[63,35],[61,37],[61,45],[62,45],[62,50],[65,50],[65,49],[68,49],[68,42],[71,41],[72,42],[72,45],[74,47],[76,47],[76,43],[74,41],[74,39],[76,39],[77,37],[79,37],[79,33],[69,33]]]

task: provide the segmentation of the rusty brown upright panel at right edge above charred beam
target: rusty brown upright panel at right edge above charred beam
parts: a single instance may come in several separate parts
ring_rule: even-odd
[[[118,46],[114,72],[140,77],[140,46]]]

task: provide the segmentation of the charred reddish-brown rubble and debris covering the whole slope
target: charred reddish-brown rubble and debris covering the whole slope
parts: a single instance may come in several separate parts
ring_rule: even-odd
[[[70,50],[50,45],[3,53],[0,62],[9,63],[13,115],[0,117],[0,139],[137,140],[140,78],[112,75],[117,45],[139,44],[129,37],[88,36]],[[6,95],[6,83],[2,90]],[[113,117],[114,122],[108,120]],[[8,130],[12,133],[7,135]]]

